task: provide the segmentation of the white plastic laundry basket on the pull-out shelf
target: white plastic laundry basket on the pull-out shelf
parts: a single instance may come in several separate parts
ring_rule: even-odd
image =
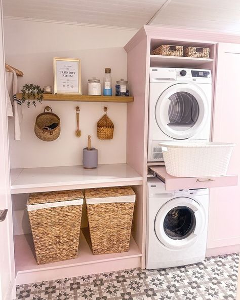
[[[162,142],[167,173],[176,177],[226,175],[234,144],[207,141]]]

